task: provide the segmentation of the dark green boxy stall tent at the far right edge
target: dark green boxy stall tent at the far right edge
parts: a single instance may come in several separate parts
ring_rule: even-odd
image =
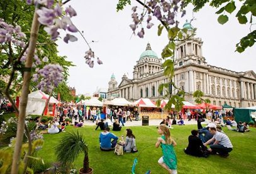
[[[239,121],[249,123],[250,121],[253,121],[251,113],[255,111],[256,110],[249,108],[234,108],[233,113],[235,115],[235,121],[237,121],[237,123]]]

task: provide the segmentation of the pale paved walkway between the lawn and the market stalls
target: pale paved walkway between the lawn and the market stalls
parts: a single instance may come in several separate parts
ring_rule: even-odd
[[[149,123],[149,126],[158,126],[158,125],[160,125],[161,121],[162,120],[160,120],[160,119],[154,119],[154,120],[149,120],[148,123]],[[73,123],[75,123],[74,119],[73,119]],[[185,125],[197,125],[198,123],[196,120],[191,120],[191,121],[184,120],[184,124]],[[206,122],[202,122],[202,124],[206,124]],[[95,126],[96,122],[94,121],[94,123],[92,123],[92,121],[84,121],[84,125]],[[142,120],[126,121],[125,126],[142,126]]]

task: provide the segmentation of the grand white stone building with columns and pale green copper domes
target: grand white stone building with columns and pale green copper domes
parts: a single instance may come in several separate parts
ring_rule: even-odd
[[[183,27],[188,31],[192,29],[190,23],[185,23]],[[185,96],[186,101],[194,103],[192,93],[201,90],[205,98],[209,98],[213,105],[221,106],[226,102],[235,107],[255,106],[255,72],[236,72],[211,66],[203,57],[202,47],[203,41],[196,37],[179,41],[176,44],[175,73],[172,81],[176,86],[191,94]],[[124,74],[118,85],[114,74],[111,76],[108,99],[119,96],[130,101],[139,98],[150,98],[156,101],[165,95],[165,91],[159,93],[159,84],[167,83],[167,80],[163,74],[161,58],[158,58],[148,43],[146,51],[140,55],[140,59],[136,61],[133,68],[133,79],[128,79]]]

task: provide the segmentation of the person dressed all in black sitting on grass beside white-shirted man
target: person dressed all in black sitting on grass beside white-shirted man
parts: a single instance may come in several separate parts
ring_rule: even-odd
[[[203,145],[203,142],[200,140],[200,138],[198,138],[198,135],[199,131],[191,131],[191,135],[189,135],[189,145],[187,146],[187,148],[184,149],[184,151],[187,155],[207,157],[209,156],[209,153],[205,153],[205,151],[207,151],[207,148]]]

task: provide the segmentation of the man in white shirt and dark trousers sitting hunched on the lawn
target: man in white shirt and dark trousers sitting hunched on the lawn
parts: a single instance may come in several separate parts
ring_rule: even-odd
[[[204,143],[204,146],[214,141],[213,145],[210,145],[209,151],[213,154],[218,153],[225,158],[228,157],[228,153],[233,150],[230,138],[217,131],[216,128],[209,128],[209,131],[213,134],[213,138]]]

